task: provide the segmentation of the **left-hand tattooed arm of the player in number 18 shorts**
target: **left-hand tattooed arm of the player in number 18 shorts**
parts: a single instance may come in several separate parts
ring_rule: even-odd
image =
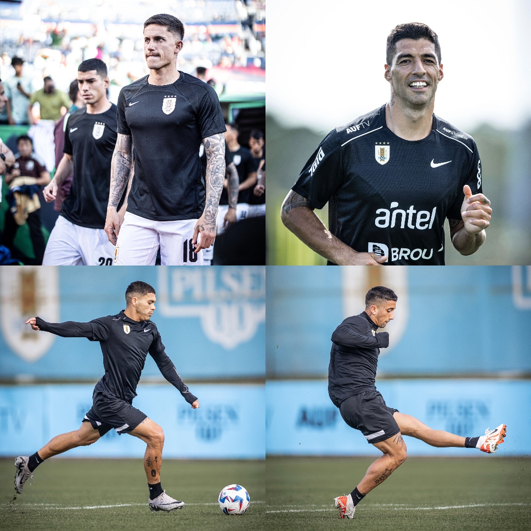
[[[105,220],[105,232],[109,242],[113,245],[116,245],[121,225],[116,207],[122,199],[127,182],[129,182],[132,166],[133,139],[131,135],[118,133],[113,159],[110,164],[109,202],[107,204],[107,219]]]

